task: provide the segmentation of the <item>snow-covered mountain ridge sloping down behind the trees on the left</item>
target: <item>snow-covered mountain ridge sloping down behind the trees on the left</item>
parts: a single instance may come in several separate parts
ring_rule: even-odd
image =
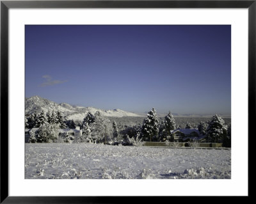
[[[41,111],[45,113],[47,111],[60,111],[63,116],[67,116],[68,120],[83,120],[84,116],[90,111],[92,114],[95,114],[96,111],[104,116],[109,117],[123,117],[123,116],[134,116],[141,117],[139,114],[123,111],[120,109],[113,110],[102,110],[95,107],[81,107],[81,106],[72,106],[67,103],[58,104],[47,100],[46,98],[41,98],[38,96],[25,98],[25,114],[33,114],[35,112],[40,113]]]

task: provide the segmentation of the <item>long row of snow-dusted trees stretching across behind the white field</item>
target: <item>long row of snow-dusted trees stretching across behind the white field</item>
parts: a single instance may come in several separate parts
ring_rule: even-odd
[[[27,128],[38,127],[35,136],[31,136],[30,142],[51,142],[58,141],[58,128],[74,129],[76,124],[73,120],[66,120],[59,111],[45,114],[32,114],[26,118]],[[99,111],[95,114],[88,112],[79,124],[82,135],[76,137],[77,143],[92,141],[94,143],[105,143],[112,145],[134,145],[143,141],[174,141],[172,130],[179,129],[175,123],[173,115],[169,112],[160,123],[156,109],[152,108],[143,120],[142,125],[125,127],[119,130],[118,124],[111,123],[108,118],[102,116]],[[186,129],[191,129],[190,123],[186,124]],[[197,126],[200,134],[204,135],[204,140],[211,143],[223,143],[223,146],[231,146],[231,125],[225,124],[224,120],[215,114],[211,120],[200,122]],[[55,131],[55,136],[54,136]],[[40,134],[39,134],[40,133]],[[48,137],[47,137],[48,136]],[[36,139],[37,138],[37,139]],[[48,139],[47,139],[48,138]],[[66,139],[66,141],[68,141]]]

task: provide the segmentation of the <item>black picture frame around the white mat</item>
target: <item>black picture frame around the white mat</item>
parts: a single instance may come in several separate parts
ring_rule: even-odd
[[[248,8],[248,141],[253,136],[256,92],[256,0],[253,1],[1,1],[1,203],[122,203],[144,202],[143,196],[84,197],[84,196],[9,196],[8,194],[8,10],[10,8]],[[250,144],[250,142],[248,143]],[[248,150],[251,150],[248,145]],[[250,152],[250,151],[249,151]],[[248,158],[250,158],[248,152]],[[250,161],[250,159],[249,159]],[[249,162],[248,162],[249,165]],[[248,166],[250,169],[250,166]],[[249,173],[249,172],[248,172]],[[250,179],[248,179],[249,184]],[[249,189],[249,188],[248,188]],[[250,197],[250,191],[248,196]],[[188,198],[188,196],[186,196]],[[212,198],[214,199],[214,198]],[[189,197],[197,201],[198,198]],[[214,199],[215,200],[215,199]],[[159,198],[150,198],[159,201]],[[179,200],[177,200],[179,201]]]

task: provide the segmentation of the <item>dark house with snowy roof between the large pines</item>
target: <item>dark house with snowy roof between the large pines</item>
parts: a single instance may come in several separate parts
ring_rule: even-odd
[[[195,139],[199,140],[204,138],[202,134],[198,131],[198,129],[176,129],[171,131],[174,141],[185,141],[186,139]]]

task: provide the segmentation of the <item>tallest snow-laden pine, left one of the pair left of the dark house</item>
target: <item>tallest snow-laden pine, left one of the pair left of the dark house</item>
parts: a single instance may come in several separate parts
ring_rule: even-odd
[[[152,141],[153,138],[157,137],[159,132],[159,120],[157,118],[156,110],[154,107],[152,111],[148,112],[147,117],[143,121],[141,133],[143,140]]]

